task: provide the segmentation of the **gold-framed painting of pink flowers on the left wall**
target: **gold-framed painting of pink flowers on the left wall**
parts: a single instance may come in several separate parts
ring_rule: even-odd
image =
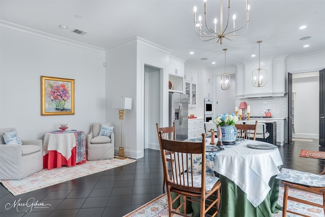
[[[75,80],[41,76],[41,115],[75,114]]]

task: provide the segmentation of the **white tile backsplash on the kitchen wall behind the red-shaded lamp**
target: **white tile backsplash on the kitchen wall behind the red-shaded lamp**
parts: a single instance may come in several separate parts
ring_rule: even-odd
[[[288,116],[288,98],[286,96],[237,99],[236,106],[239,107],[241,102],[246,102],[250,106],[250,116],[265,116],[266,109],[270,109],[272,117]],[[247,115],[247,109],[245,109],[245,114]]]

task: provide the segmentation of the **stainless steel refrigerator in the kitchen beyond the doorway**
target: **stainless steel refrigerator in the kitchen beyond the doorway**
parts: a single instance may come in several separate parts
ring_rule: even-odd
[[[169,126],[175,122],[176,139],[187,139],[188,96],[178,92],[169,93]]]

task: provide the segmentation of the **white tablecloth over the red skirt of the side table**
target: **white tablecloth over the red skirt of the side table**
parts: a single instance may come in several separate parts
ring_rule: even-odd
[[[76,136],[74,133],[46,133],[43,140],[43,156],[50,150],[57,151],[67,159],[71,158],[71,150],[76,146]]]

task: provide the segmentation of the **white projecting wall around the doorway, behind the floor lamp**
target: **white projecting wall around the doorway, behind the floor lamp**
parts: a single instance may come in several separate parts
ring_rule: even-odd
[[[160,121],[159,126],[168,126],[168,61],[169,52],[159,45],[140,38],[132,39],[107,51],[106,60],[106,114],[114,113],[110,101],[113,97],[133,98],[132,110],[127,110],[123,121],[122,141],[125,154],[141,158],[144,154],[144,66],[163,70],[160,79]],[[165,102],[165,103],[164,103]],[[117,111],[111,116],[116,128],[120,129]],[[107,118],[107,117],[106,117]],[[155,125],[152,126],[155,128]],[[115,131],[114,131],[115,133]],[[115,137],[115,149],[120,145],[120,133]]]

